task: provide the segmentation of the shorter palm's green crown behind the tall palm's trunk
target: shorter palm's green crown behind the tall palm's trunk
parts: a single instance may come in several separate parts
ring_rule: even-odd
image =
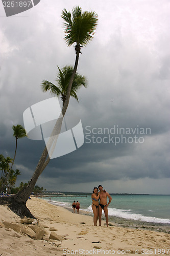
[[[57,96],[57,97],[60,96],[64,106],[66,95],[67,95],[68,83],[72,75],[72,72],[74,70],[74,67],[64,66],[62,69],[59,69],[58,67],[58,70],[59,72],[56,79],[56,85],[53,84],[52,82],[44,80],[41,83],[41,89],[43,92],[50,91],[50,93],[53,94],[54,96]],[[79,100],[76,93],[81,86],[87,87],[87,80],[85,76],[82,76],[78,72],[76,72],[74,80],[72,82],[70,96],[74,97],[78,102]]]

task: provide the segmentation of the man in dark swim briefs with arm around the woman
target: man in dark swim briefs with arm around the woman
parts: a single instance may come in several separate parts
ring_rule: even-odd
[[[99,203],[99,226],[102,225],[102,210],[104,210],[105,218],[106,218],[106,225],[108,227],[109,220],[108,220],[108,205],[112,201],[112,197],[109,195],[109,193],[106,192],[106,190],[103,190],[102,185],[98,186],[100,190],[100,203]],[[109,198],[109,202],[107,204],[107,197]]]

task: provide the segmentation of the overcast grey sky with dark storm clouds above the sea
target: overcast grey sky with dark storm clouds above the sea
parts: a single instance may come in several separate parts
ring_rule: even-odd
[[[27,108],[52,97],[41,91],[42,80],[54,83],[57,66],[74,65],[61,12],[80,5],[99,15],[95,36],[79,59],[88,88],[68,107],[82,121],[85,142],[52,159],[37,185],[91,192],[102,184],[110,193],[170,194],[169,1],[41,0],[11,17],[0,5],[0,154],[13,158],[12,125],[23,125]],[[101,134],[104,128],[109,133]],[[31,179],[44,146],[43,140],[18,140],[17,185]]]

